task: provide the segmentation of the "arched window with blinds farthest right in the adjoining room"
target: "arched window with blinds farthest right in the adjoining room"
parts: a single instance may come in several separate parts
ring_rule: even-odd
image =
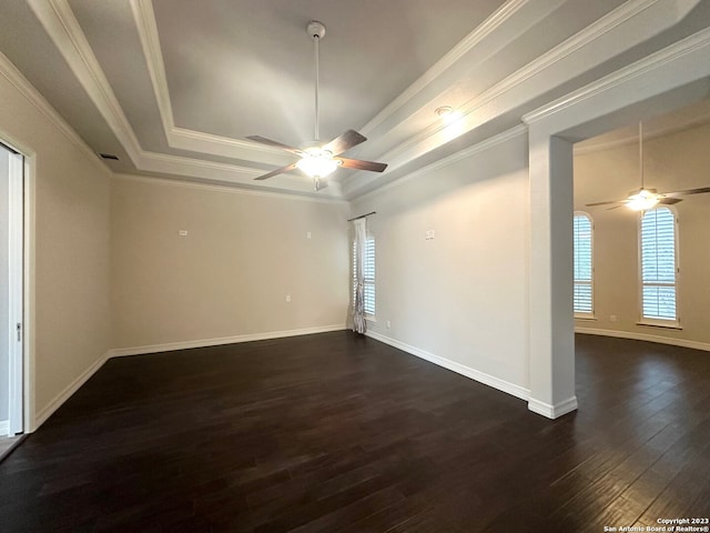
[[[668,208],[641,215],[641,320],[647,323],[678,323],[676,224],[676,215]]]

